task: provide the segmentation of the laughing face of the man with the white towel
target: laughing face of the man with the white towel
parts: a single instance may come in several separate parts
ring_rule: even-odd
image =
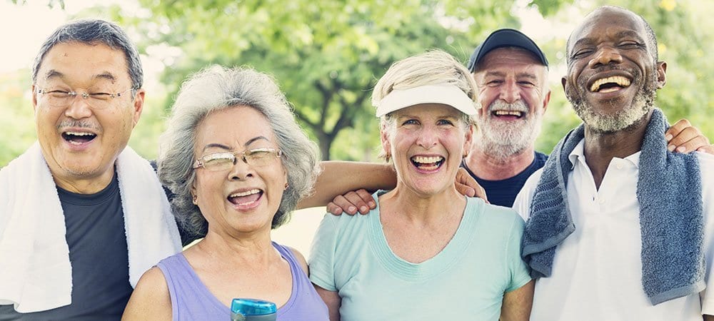
[[[42,153],[61,188],[96,193],[109,184],[114,161],[139,121],[144,91],[135,96],[126,91],[102,109],[91,106],[91,98],[82,98],[81,93],[119,93],[127,88],[131,80],[123,51],[72,42],[55,45],[44,57],[32,86],[32,103]],[[50,94],[38,90],[79,95],[66,105],[49,106]],[[87,181],[96,184],[89,190],[79,188]]]

